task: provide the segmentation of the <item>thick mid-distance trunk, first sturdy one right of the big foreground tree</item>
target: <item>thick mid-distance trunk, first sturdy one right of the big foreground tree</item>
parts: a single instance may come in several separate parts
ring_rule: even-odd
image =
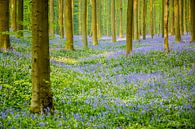
[[[66,16],[66,50],[74,50],[73,47],[73,22],[72,22],[72,0],[65,1],[65,16]]]

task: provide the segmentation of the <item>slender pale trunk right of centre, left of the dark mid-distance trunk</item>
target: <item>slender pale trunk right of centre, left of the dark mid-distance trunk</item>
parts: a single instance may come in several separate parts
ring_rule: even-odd
[[[112,42],[116,42],[115,0],[112,0]]]

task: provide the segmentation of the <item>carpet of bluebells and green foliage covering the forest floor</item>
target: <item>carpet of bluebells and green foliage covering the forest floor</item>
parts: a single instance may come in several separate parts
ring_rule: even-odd
[[[11,38],[12,49],[0,53],[0,129],[115,128],[194,129],[195,44],[190,36],[163,51],[163,38],[148,35],[133,42],[125,57],[125,39],[102,37],[89,49],[74,37],[50,39],[54,115],[29,112],[31,38]]]

